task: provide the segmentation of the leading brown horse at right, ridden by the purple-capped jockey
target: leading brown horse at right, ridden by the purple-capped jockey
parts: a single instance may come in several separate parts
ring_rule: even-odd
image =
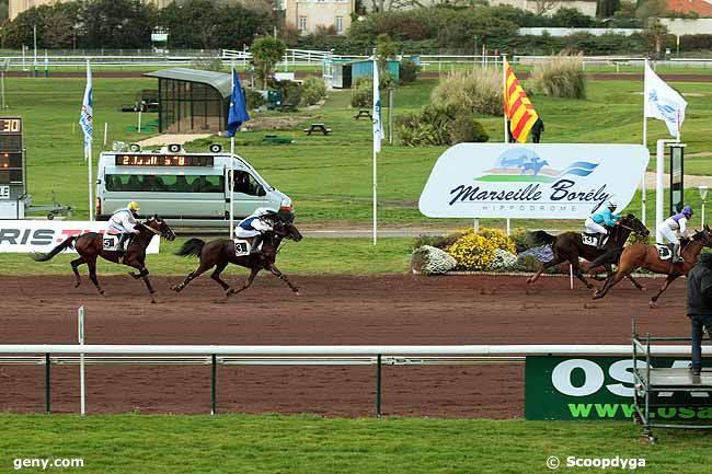
[[[592,266],[618,263],[618,270],[616,274],[608,276],[604,287],[594,293],[594,299],[604,298],[624,276],[630,276],[635,268],[643,267],[656,274],[667,275],[665,284],[648,303],[651,308],[656,308],[657,299],[661,294],[677,278],[684,275],[687,276],[694,266],[698,255],[702,252],[702,247],[709,246],[712,246],[712,230],[705,224],[703,230],[696,231],[691,239],[682,242],[680,256],[685,262],[679,264],[673,263],[671,258],[669,262],[661,259],[655,245],[635,244],[611,250],[592,262]]]

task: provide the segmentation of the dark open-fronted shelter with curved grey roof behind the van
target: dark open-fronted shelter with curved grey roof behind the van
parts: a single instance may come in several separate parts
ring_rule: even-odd
[[[171,68],[143,76],[158,78],[160,132],[217,134],[226,129],[232,92],[230,74]]]

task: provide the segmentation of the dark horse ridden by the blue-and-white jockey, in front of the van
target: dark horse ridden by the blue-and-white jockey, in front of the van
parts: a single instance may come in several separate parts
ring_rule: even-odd
[[[209,270],[210,268],[216,267],[210,275],[210,278],[217,281],[220,287],[222,287],[226,299],[230,294],[236,294],[250,288],[252,281],[262,269],[272,271],[273,275],[286,282],[289,288],[291,288],[291,291],[294,291],[296,294],[299,294],[299,289],[294,286],[291,281],[289,281],[286,275],[277,269],[275,266],[275,259],[277,258],[277,253],[279,251],[282,240],[290,239],[295,242],[299,242],[302,239],[301,233],[299,233],[297,228],[291,222],[278,219],[276,215],[273,217],[276,219],[274,230],[265,232],[263,235],[262,251],[260,253],[253,253],[245,256],[237,256],[234,252],[234,243],[230,239],[219,239],[210,241],[208,243],[205,243],[200,239],[191,239],[185,242],[181,250],[179,250],[175,254],[183,257],[195,255],[200,257],[200,262],[194,271],[191,271],[182,282],[174,286],[172,289],[176,292],[181,291],[192,280]],[[231,289],[230,285],[220,279],[220,274],[222,270],[225,270],[225,267],[227,267],[228,264],[234,264],[250,268],[250,275],[248,276],[248,279],[245,280],[242,288],[238,290]]]

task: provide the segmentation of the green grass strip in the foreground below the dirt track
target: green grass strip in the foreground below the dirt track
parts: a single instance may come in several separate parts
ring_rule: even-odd
[[[622,421],[3,415],[0,423],[3,473],[15,472],[14,459],[80,458],[82,469],[61,471],[520,474],[550,472],[551,455],[564,463],[567,456],[644,459],[641,471],[651,474],[709,472],[709,436],[661,430],[661,442],[648,446],[640,427]],[[599,471],[562,466],[556,472]]]

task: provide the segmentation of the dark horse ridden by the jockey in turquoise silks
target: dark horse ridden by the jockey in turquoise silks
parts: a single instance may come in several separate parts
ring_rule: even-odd
[[[584,277],[584,273],[578,265],[578,258],[584,257],[590,262],[606,254],[607,251],[616,247],[622,247],[631,232],[635,232],[636,234],[643,236],[647,236],[651,233],[650,230],[647,230],[647,228],[643,224],[643,222],[641,222],[641,220],[632,213],[623,216],[618,221],[618,226],[612,229],[612,233],[609,234],[610,236],[604,245],[604,248],[596,248],[595,246],[584,244],[581,238],[581,232],[564,232],[559,235],[551,235],[550,233],[541,230],[531,232],[530,235],[535,243],[538,245],[551,245],[554,257],[551,261],[544,263],[537,270],[537,273],[527,280],[527,284],[533,284],[537,281],[544,269],[567,261],[571,264],[576,278],[583,281],[584,285],[586,285],[586,288],[590,290],[594,288],[594,286]],[[589,268],[595,268],[595,266],[590,265]],[[606,266],[606,270],[609,274],[612,273],[610,264]],[[641,291],[643,290],[643,286],[635,281],[632,277],[629,277],[629,279],[635,286],[635,288]]]

